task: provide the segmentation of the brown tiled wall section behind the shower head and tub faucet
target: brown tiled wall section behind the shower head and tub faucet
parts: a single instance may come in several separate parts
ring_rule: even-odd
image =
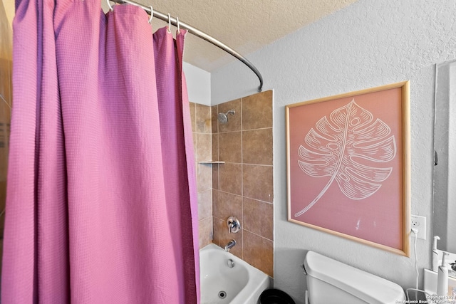
[[[235,110],[228,122],[217,113]],[[272,91],[212,106],[213,242],[273,276]],[[236,216],[242,229],[229,234],[227,218]]]

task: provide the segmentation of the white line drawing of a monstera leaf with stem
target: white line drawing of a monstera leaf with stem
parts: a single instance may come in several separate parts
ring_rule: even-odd
[[[337,182],[349,199],[366,199],[378,191],[392,167],[382,164],[394,159],[394,135],[383,121],[374,120],[371,112],[351,103],[322,117],[307,133],[298,150],[299,167],[310,177],[330,177],[326,186],[297,212],[298,217],[311,209],[328,188]],[[369,164],[369,165],[367,165]]]

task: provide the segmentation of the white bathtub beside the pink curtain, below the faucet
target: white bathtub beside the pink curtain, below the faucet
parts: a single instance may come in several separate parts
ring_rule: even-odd
[[[268,275],[213,243],[199,250],[199,263],[201,304],[257,304],[269,288]]]

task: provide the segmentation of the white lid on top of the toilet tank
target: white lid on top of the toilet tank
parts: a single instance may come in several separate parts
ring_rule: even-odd
[[[304,267],[308,276],[345,290],[368,303],[398,303],[398,300],[405,300],[400,285],[314,251],[306,253]]]

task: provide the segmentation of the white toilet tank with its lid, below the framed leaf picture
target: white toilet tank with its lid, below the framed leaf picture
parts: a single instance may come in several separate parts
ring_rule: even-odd
[[[403,303],[400,285],[309,251],[304,260],[310,304]]]

